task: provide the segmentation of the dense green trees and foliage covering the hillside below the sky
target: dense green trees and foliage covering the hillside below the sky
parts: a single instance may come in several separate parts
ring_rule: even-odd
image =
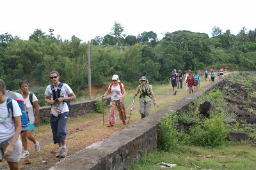
[[[102,86],[103,77],[118,74],[121,80],[138,83],[147,76],[151,83],[166,81],[172,69],[198,70],[205,67],[238,66],[256,69],[256,30],[239,34],[212,29],[207,34],[176,31],[157,39],[153,31],[138,36],[122,34],[124,27],[115,22],[113,32],[91,40],[92,83]],[[88,85],[88,45],[76,36],[63,40],[54,30],[45,34],[36,29],[29,40],[5,33],[0,35],[0,78],[8,89],[17,89],[20,80],[37,86],[51,83],[49,73],[60,73],[60,81],[78,91]]]

